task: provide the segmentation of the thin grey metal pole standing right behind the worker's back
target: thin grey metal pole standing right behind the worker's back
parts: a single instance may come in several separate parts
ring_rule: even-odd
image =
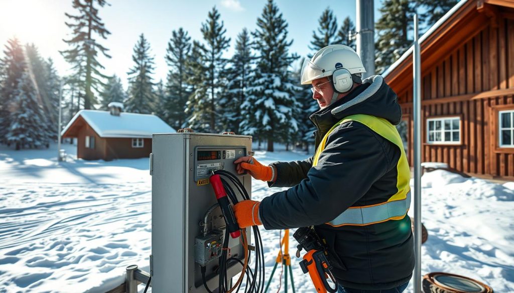
[[[412,54],[414,111],[414,292],[421,292],[421,54],[418,37],[418,16],[414,14],[414,51]]]

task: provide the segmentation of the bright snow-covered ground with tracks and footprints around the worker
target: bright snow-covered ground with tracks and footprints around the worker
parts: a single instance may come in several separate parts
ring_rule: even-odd
[[[76,159],[75,146],[64,148],[70,160],[57,164],[56,146],[0,147],[0,293],[105,292],[123,282],[125,266],[148,270],[148,159],[88,162]],[[255,157],[268,164],[307,155],[256,151]],[[254,199],[272,192],[262,182],[252,183]],[[423,223],[429,238],[423,274],[453,272],[483,281],[495,292],[514,291],[513,210],[514,182],[502,186],[446,171],[425,174]],[[267,279],[280,232],[261,232]],[[295,247],[291,236],[291,255]],[[314,292],[294,256],[292,265],[296,291]],[[280,268],[270,292],[277,291],[279,276]],[[407,291],[412,292],[412,282]]]

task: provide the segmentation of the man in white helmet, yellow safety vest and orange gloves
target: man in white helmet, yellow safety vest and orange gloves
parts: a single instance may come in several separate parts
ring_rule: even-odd
[[[301,84],[311,84],[320,110],[315,154],[304,161],[264,166],[253,157],[234,161],[269,187],[290,187],[261,202],[234,206],[240,227],[314,226],[326,241],[338,292],[402,292],[412,277],[414,244],[410,168],[395,125],[396,93],[365,72],[357,53],[330,45],[306,59]]]

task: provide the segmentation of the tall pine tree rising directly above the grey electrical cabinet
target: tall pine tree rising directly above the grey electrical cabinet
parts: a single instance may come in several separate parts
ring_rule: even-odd
[[[216,7],[213,7],[209,12],[207,21],[201,24],[201,33],[204,37],[204,43],[200,44],[199,49],[201,52],[201,60],[204,64],[205,84],[197,84],[197,90],[205,91],[207,96],[194,95],[195,100],[192,103],[200,103],[198,99],[205,99],[208,103],[207,107],[195,107],[189,119],[193,125],[209,124],[208,129],[201,130],[216,133],[219,132],[219,124],[216,123],[219,108],[219,99],[221,97],[222,89],[226,85],[226,66],[228,61],[222,55],[228,49],[230,38],[225,37],[226,29],[224,28],[223,21],[220,21],[220,15]],[[205,89],[200,89],[205,87]],[[201,109],[201,112],[198,112]],[[192,119],[194,118],[194,119]]]

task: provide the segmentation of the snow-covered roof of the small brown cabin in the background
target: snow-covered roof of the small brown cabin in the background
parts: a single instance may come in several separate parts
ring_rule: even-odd
[[[66,125],[61,135],[81,116],[101,138],[151,138],[153,133],[177,132],[156,115],[108,111],[80,110]]]

